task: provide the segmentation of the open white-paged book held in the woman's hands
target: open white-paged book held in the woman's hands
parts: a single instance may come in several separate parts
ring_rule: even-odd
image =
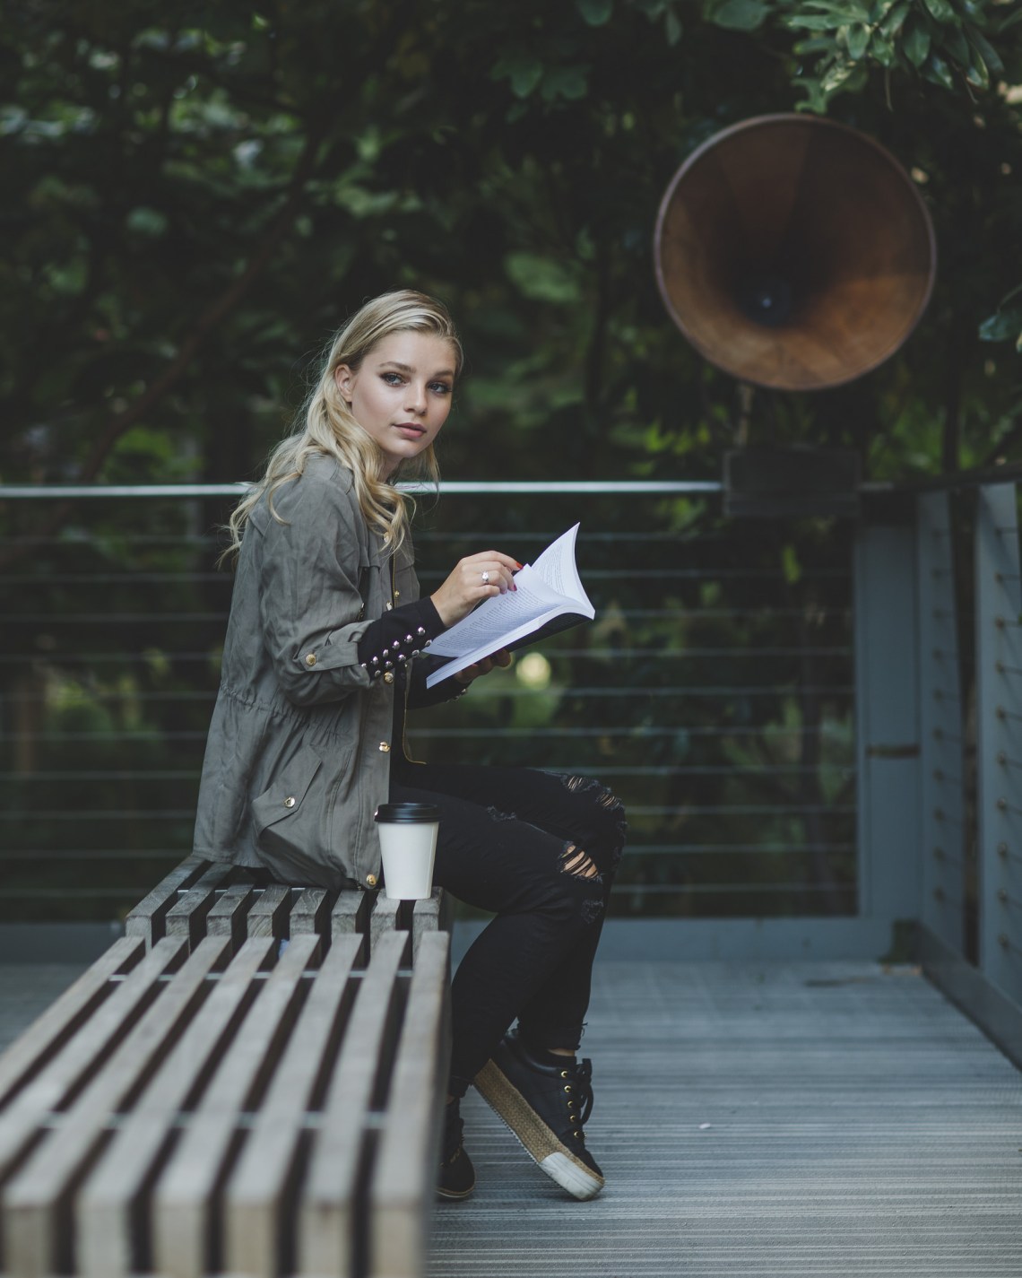
[[[551,542],[535,564],[526,564],[515,574],[517,589],[484,599],[433,640],[429,656],[451,659],[427,677],[427,688],[501,648],[520,648],[580,621],[593,620],[597,610],[589,602],[575,566],[577,533],[577,524],[568,528],[556,542]]]

